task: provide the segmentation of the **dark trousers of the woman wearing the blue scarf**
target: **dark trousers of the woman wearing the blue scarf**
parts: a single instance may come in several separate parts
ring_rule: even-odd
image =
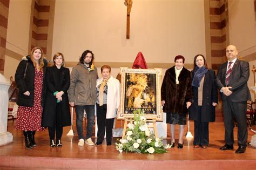
[[[194,145],[206,145],[209,144],[209,123],[208,122],[201,122],[201,108],[202,106],[198,107],[198,118],[194,120]],[[207,114],[207,113],[203,113]]]

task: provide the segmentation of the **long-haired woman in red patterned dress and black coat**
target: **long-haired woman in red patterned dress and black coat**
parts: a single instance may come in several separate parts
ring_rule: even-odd
[[[31,55],[22,58],[15,73],[19,89],[16,129],[23,131],[25,147],[28,149],[36,146],[36,131],[44,130],[41,123],[47,60],[43,56],[41,47],[34,47]]]

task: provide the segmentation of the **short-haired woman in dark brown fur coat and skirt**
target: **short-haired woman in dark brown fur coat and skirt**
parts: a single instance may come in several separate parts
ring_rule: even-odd
[[[174,66],[166,70],[161,86],[161,105],[170,124],[171,147],[175,145],[175,125],[179,125],[178,148],[183,148],[187,108],[192,102],[191,73],[184,67],[185,58],[176,56]]]

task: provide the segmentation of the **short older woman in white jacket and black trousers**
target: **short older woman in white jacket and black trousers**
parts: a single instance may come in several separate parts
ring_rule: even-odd
[[[101,71],[102,78],[97,79],[96,85],[98,126],[96,145],[102,144],[105,130],[107,145],[111,145],[114,118],[116,118],[117,108],[120,103],[120,83],[110,76],[111,67],[109,65],[103,65]]]

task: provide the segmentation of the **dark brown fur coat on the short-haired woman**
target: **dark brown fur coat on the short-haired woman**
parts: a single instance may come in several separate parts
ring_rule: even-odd
[[[191,73],[185,67],[181,70],[179,84],[176,84],[175,66],[166,70],[161,86],[161,100],[165,100],[164,112],[184,114],[187,112],[186,102],[192,103]],[[168,121],[168,120],[167,120]]]

